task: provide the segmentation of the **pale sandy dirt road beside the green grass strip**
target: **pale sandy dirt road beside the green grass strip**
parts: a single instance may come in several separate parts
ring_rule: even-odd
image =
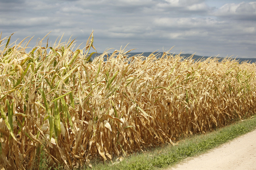
[[[256,130],[169,170],[256,170]]]

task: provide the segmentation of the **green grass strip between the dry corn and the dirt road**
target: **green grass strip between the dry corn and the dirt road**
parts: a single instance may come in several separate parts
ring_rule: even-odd
[[[202,154],[205,151],[215,148],[225,142],[244,135],[256,129],[256,118],[245,121],[239,121],[224,128],[218,128],[215,131],[205,135],[194,135],[185,138],[178,145],[170,144],[164,147],[158,147],[144,153],[134,154],[119,163],[92,163],[92,168],[83,169],[93,170],[153,170],[165,168],[169,165],[175,165],[187,157]]]

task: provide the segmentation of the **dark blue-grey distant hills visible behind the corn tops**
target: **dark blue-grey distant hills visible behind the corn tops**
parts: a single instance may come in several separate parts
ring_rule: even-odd
[[[134,55],[139,55],[139,54],[142,54],[142,53],[127,53],[128,57],[132,57]],[[152,54],[152,52],[145,52],[145,53],[143,53],[143,56],[148,57],[150,54]],[[91,60],[93,60],[96,55],[101,55],[101,54],[100,53],[93,54],[92,57],[91,57]],[[110,53],[110,55],[111,55],[111,53]],[[156,55],[157,58],[160,58],[163,55],[163,52],[159,52],[159,53],[155,52],[154,55]],[[181,56],[183,56],[184,59],[190,57],[191,55],[193,55],[193,54],[181,54]],[[197,61],[197,60],[205,60],[209,57],[210,56],[193,55],[192,59]],[[218,57],[218,58],[219,58],[219,61],[222,61],[224,59],[223,57]],[[248,59],[246,59],[246,58],[236,58],[236,60],[238,60],[239,63],[242,63],[242,62],[255,63],[256,62],[256,59],[251,59],[251,58],[248,58]]]

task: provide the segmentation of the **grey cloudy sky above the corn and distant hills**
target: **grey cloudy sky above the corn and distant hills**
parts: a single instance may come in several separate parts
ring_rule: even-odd
[[[129,43],[133,52],[175,46],[171,53],[256,58],[256,1],[0,0],[0,31],[2,38],[15,32],[11,42],[34,35],[34,47],[51,31],[49,41],[64,33],[78,46],[92,30],[100,53]]]

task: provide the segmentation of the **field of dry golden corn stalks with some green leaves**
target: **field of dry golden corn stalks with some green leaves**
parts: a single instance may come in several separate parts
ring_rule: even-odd
[[[10,38],[0,37],[5,169],[38,169],[42,151],[66,169],[90,165],[92,158],[172,143],[256,112],[255,63],[168,52],[128,57],[124,49],[88,62],[93,34],[83,49],[61,37],[52,47],[41,40],[28,53],[31,39],[9,45]]]

